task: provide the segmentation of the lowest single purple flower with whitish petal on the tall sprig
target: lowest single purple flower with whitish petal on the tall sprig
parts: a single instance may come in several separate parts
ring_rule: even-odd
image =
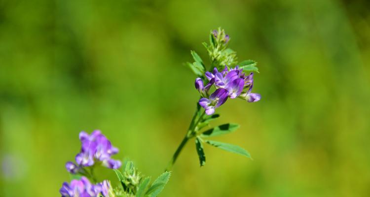
[[[228,92],[226,89],[220,88],[217,89],[209,99],[201,98],[199,99],[199,105],[202,106],[206,110],[207,115],[211,115],[215,113],[215,108],[221,106],[224,102],[226,102],[228,96]]]

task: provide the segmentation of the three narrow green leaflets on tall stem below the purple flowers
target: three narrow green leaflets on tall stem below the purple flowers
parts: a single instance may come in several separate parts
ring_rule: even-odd
[[[215,146],[217,148],[220,148],[222,150],[225,150],[225,151],[228,151],[228,152],[231,152],[231,153],[236,153],[236,154],[239,154],[239,155],[243,155],[247,158],[251,158],[251,155],[248,153],[248,151],[244,150],[240,146],[233,145],[233,144],[228,144],[228,143],[224,143],[224,142],[218,142],[218,141],[213,141],[213,140],[203,140],[202,139],[202,137],[207,138],[207,137],[214,137],[214,136],[218,136],[218,135],[227,134],[227,133],[235,131],[238,128],[239,128],[239,125],[228,123],[228,124],[220,125],[220,126],[212,128],[210,130],[204,131],[202,134],[197,136],[195,138],[195,148],[196,148],[196,151],[197,151],[197,154],[198,154],[198,157],[199,157],[200,166],[203,166],[206,163],[206,156],[204,154],[204,149],[203,149],[203,144],[202,144],[203,141],[205,141],[207,144],[210,144],[210,145]]]

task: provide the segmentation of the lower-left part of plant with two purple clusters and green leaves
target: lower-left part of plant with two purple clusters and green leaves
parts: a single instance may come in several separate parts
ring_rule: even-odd
[[[166,171],[149,184],[150,177],[144,177],[131,161],[124,162],[122,171],[119,170],[122,163],[111,159],[118,149],[99,130],[90,135],[81,131],[79,139],[81,151],[75,157],[76,164],[66,163],[73,180],[70,184],[63,183],[59,190],[62,197],[156,197],[170,178],[170,172]],[[97,165],[113,169],[120,185],[113,188],[109,180],[98,182],[94,175]]]

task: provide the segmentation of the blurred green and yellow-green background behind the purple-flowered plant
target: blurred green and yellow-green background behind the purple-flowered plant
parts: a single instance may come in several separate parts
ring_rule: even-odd
[[[158,176],[198,99],[183,63],[221,26],[262,99],[213,125],[254,160],[206,145],[200,168],[190,141],[160,196],[369,197],[369,2],[0,0],[0,196],[59,196],[82,130]]]

